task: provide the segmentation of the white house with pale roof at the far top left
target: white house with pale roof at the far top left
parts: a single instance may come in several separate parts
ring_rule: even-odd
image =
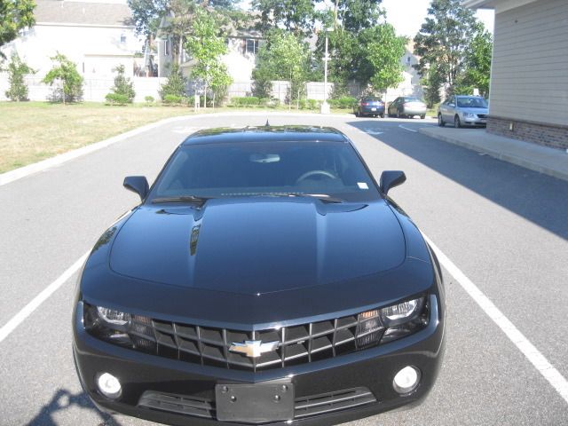
[[[74,61],[85,78],[108,77],[120,64],[132,75],[134,53],[141,45],[128,5],[113,0],[36,0],[34,15],[36,25],[2,47],[8,58],[17,51],[40,77],[58,51]]]

